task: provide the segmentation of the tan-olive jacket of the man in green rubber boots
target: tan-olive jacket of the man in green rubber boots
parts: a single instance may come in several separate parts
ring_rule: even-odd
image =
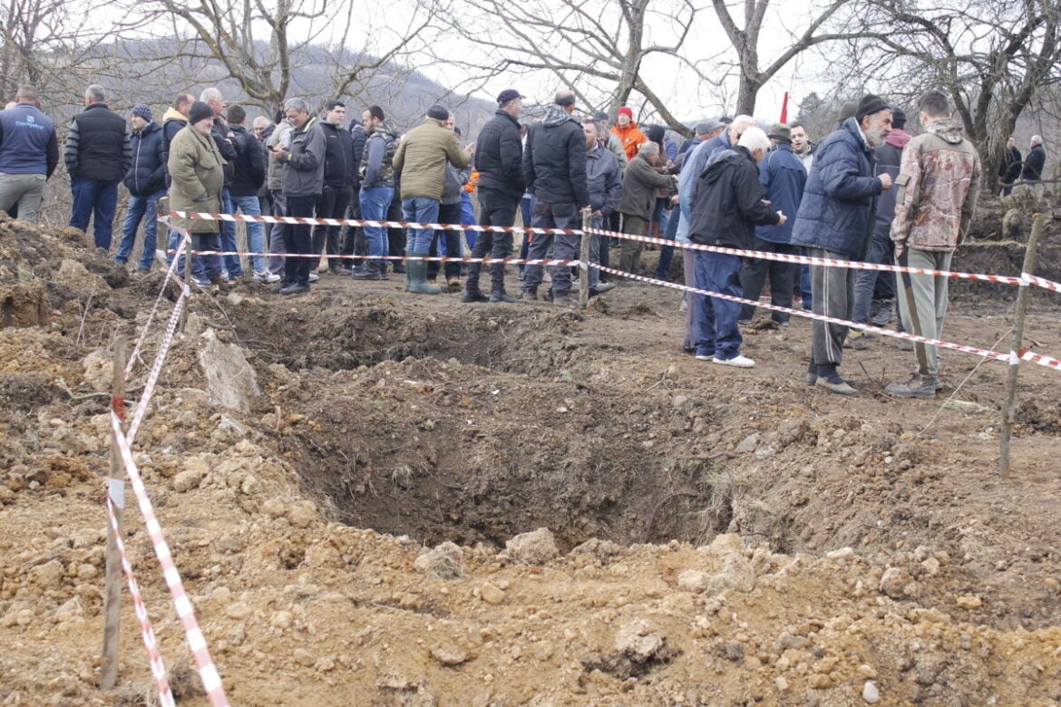
[[[460,146],[442,121],[427,118],[408,131],[395,153],[394,167],[401,171],[401,198],[440,200],[448,163],[466,167],[471,164],[471,153]]]

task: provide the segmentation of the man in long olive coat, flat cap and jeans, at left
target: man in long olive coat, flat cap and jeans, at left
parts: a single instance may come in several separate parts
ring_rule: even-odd
[[[188,111],[188,125],[170,143],[170,208],[174,211],[221,213],[221,190],[225,185],[225,160],[210,137],[213,111],[196,101]],[[193,250],[221,250],[221,222],[206,218],[176,218],[173,226],[191,233]],[[195,284],[220,285],[221,255],[196,255],[203,265]],[[180,265],[178,264],[178,268]]]

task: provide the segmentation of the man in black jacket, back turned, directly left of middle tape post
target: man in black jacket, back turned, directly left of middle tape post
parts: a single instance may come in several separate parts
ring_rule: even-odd
[[[590,192],[586,181],[586,135],[582,125],[571,113],[575,111],[575,94],[557,91],[545,118],[527,131],[523,151],[523,178],[527,191],[537,197],[530,217],[533,228],[581,228],[581,211],[590,208]],[[556,242],[554,258],[574,260],[578,257],[579,237],[568,234],[536,233],[530,241],[528,258],[545,258],[550,245]],[[541,265],[527,265],[523,280],[523,299],[538,299],[538,285],[544,278]],[[553,268],[553,303],[569,306],[571,299],[571,267]]]

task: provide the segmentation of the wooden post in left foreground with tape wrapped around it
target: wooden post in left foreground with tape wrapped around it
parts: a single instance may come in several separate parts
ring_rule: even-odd
[[[115,377],[111,386],[111,409],[125,419],[125,339],[115,339]],[[118,438],[110,438],[110,478],[107,496],[114,503],[118,531],[122,529],[122,508],[125,506],[125,466],[118,450]],[[103,595],[103,660],[100,687],[112,690],[118,683],[118,638],[121,630],[122,561],[118,553],[115,531],[107,519],[107,569]]]

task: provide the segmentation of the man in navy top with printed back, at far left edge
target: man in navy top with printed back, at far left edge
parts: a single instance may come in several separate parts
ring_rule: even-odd
[[[0,211],[18,206],[18,217],[30,223],[59,162],[55,123],[37,103],[37,89],[19,86],[16,105],[0,111]]]

